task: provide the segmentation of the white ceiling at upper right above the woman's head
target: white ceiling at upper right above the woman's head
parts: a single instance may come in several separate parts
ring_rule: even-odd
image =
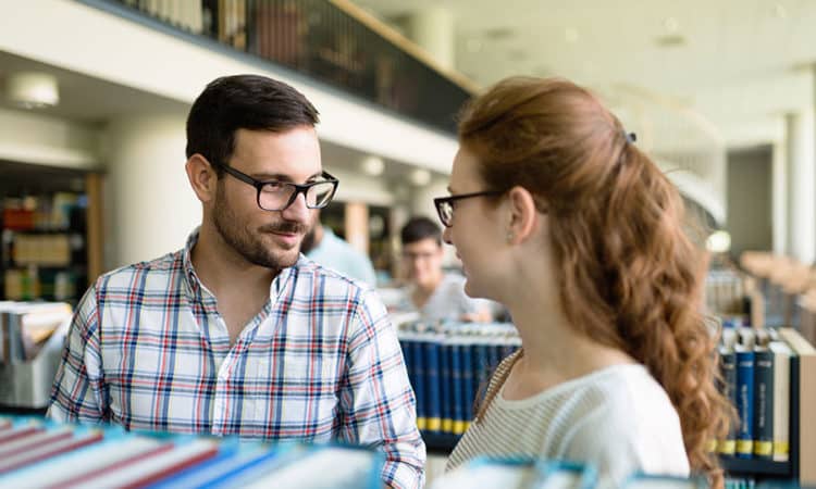
[[[641,92],[691,109],[729,146],[782,137],[782,114],[813,108],[814,0],[360,0],[399,26],[443,8],[456,67],[479,85],[559,75],[606,97]],[[679,46],[658,39],[680,36]]]

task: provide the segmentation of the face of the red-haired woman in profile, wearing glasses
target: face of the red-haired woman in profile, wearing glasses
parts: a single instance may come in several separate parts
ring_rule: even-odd
[[[490,189],[482,181],[477,165],[475,154],[461,147],[454,159],[450,174],[448,190],[452,196]],[[456,248],[456,255],[461,260],[468,296],[498,300],[498,291],[507,274],[502,255],[506,233],[502,230],[494,202],[489,197],[455,201],[452,226],[444,229],[443,239]]]

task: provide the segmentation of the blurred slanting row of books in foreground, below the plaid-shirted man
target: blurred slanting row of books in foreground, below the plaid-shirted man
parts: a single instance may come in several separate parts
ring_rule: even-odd
[[[358,447],[268,444],[0,417],[0,487],[374,489],[381,487],[383,462],[381,452]]]

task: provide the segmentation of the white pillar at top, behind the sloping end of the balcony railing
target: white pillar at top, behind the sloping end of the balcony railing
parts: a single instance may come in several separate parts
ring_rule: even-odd
[[[411,13],[406,22],[408,38],[422,47],[447,70],[455,66],[454,16],[450,11],[432,5]]]

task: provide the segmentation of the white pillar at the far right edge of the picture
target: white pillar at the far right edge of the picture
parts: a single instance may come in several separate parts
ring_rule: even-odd
[[[811,264],[816,255],[816,134],[813,111],[786,115],[788,153],[788,253]]]

